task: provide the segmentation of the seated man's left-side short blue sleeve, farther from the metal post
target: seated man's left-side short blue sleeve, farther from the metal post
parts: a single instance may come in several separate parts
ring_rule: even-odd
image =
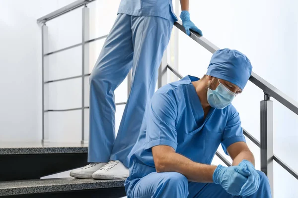
[[[177,133],[175,122],[177,104],[174,97],[167,93],[155,93],[151,104],[146,110],[146,144],[145,149],[157,145],[166,145],[177,148]]]

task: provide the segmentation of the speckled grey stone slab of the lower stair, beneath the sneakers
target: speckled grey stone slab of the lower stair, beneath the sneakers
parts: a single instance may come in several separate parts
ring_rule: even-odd
[[[77,183],[69,184],[47,184],[47,185],[36,185],[36,186],[22,186],[22,187],[6,187],[0,188],[1,196],[12,196],[12,195],[24,195],[24,194],[37,194],[37,193],[53,193],[63,191],[76,191],[76,190],[90,190],[90,189],[103,189],[103,188],[117,188],[124,187],[125,179],[117,180],[92,180],[85,179],[85,182],[81,180]]]

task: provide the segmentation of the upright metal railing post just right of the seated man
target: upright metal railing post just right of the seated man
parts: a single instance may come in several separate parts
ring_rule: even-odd
[[[266,93],[261,101],[261,171],[269,178],[273,197],[273,101]]]

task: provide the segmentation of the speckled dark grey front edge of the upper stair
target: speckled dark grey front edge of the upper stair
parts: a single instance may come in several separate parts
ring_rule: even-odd
[[[81,152],[88,152],[88,147],[0,148],[0,155],[5,155],[5,154],[81,153]]]

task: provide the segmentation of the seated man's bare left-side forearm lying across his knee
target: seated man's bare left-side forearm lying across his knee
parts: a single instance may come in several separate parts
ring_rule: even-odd
[[[213,173],[217,166],[196,163],[178,153],[168,153],[162,160],[157,172],[178,172],[189,181],[212,183]]]

